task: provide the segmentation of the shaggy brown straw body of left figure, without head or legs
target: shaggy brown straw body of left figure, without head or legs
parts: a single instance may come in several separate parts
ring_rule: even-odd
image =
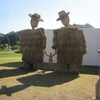
[[[20,49],[22,60],[29,64],[37,64],[43,62],[46,48],[46,36],[43,28],[36,30],[24,30],[20,38]]]

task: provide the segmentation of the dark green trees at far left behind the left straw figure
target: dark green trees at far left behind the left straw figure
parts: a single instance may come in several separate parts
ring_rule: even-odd
[[[6,35],[0,36],[0,50],[14,50],[19,48],[19,38],[23,31],[9,32]]]

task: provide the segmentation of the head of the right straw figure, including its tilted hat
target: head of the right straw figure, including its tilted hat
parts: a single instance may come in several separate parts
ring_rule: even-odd
[[[64,26],[69,26],[69,22],[70,22],[70,19],[69,19],[69,13],[70,12],[65,12],[64,10],[62,10],[62,11],[60,11],[59,13],[58,13],[58,15],[59,15],[59,18],[56,20],[56,21],[59,21],[59,20],[61,20],[61,22],[62,22],[62,24],[64,25]]]

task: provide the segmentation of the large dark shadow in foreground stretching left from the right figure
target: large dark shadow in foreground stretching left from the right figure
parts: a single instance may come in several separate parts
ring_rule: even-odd
[[[0,94],[11,96],[13,93],[24,90],[30,86],[51,87],[72,81],[78,77],[78,75],[62,74],[57,72],[30,75],[17,79],[22,83],[22,85],[12,87],[2,86],[0,89]]]

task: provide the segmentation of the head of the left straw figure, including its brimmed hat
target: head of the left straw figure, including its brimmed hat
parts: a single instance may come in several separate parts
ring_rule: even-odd
[[[33,15],[29,14],[29,16],[31,17],[30,24],[32,29],[38,26],[39,21],[43,21],[43,19],[41,19],[41,16],[38,13],[34,13]]]

